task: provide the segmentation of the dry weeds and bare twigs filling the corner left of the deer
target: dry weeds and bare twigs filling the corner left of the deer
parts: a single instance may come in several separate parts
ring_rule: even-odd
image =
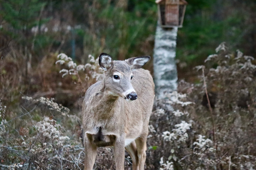
[[[22,107],[22,114],[8,122],[5,121],[5,124],[2,124],[5,106],[0,101],[0,129],[3,132],[0,133],[0,168],[81,169],[84,148],[79,140],[72,139],[74,136],[70,138],[67,135],[69,133],[64,127],[65,124],[61,124],[61,119],[72,118],[63,116],[67,115],[69,110],[53,102],[53,99],[34,100],[28,96],[23,96],[23,99],[34,106],[24,104],[24,107],[27,107]],[[45,112],[50,112],[50,117],[39,116],[42,107],[47,108]],[[24,120],[24,117],[27,118]],[[15,120],[20,123],[18,129],[12,127]],[[66,123],[69,121],[66,120]]]

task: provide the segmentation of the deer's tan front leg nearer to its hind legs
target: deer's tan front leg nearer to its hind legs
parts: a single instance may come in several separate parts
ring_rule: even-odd
[[[119,138],[116,138],[114,144],[115,166],[118,170],[124,170],[124,147],[125,137],[121,135]]]

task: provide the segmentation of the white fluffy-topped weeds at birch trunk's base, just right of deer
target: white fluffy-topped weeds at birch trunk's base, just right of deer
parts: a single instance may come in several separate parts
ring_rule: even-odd
[[[152,162],[156,157],[161,157],[161,160],[158,159],[159,162],[154,164],[155,169],[175,169],[181,159],[184,160],[188,153],[193,153],[192,150],[185,149],[188,147],[189,136],[194,134],[191,130],[193,121],[185,110],[190,105],[194,103],[187,100],[186,94],[177,91],[166,93],[164,98],[155,101],[148,136],[149,152],[154,156],[146,160]],[[183,163],[180,163],[180,166],[183,166]]]

